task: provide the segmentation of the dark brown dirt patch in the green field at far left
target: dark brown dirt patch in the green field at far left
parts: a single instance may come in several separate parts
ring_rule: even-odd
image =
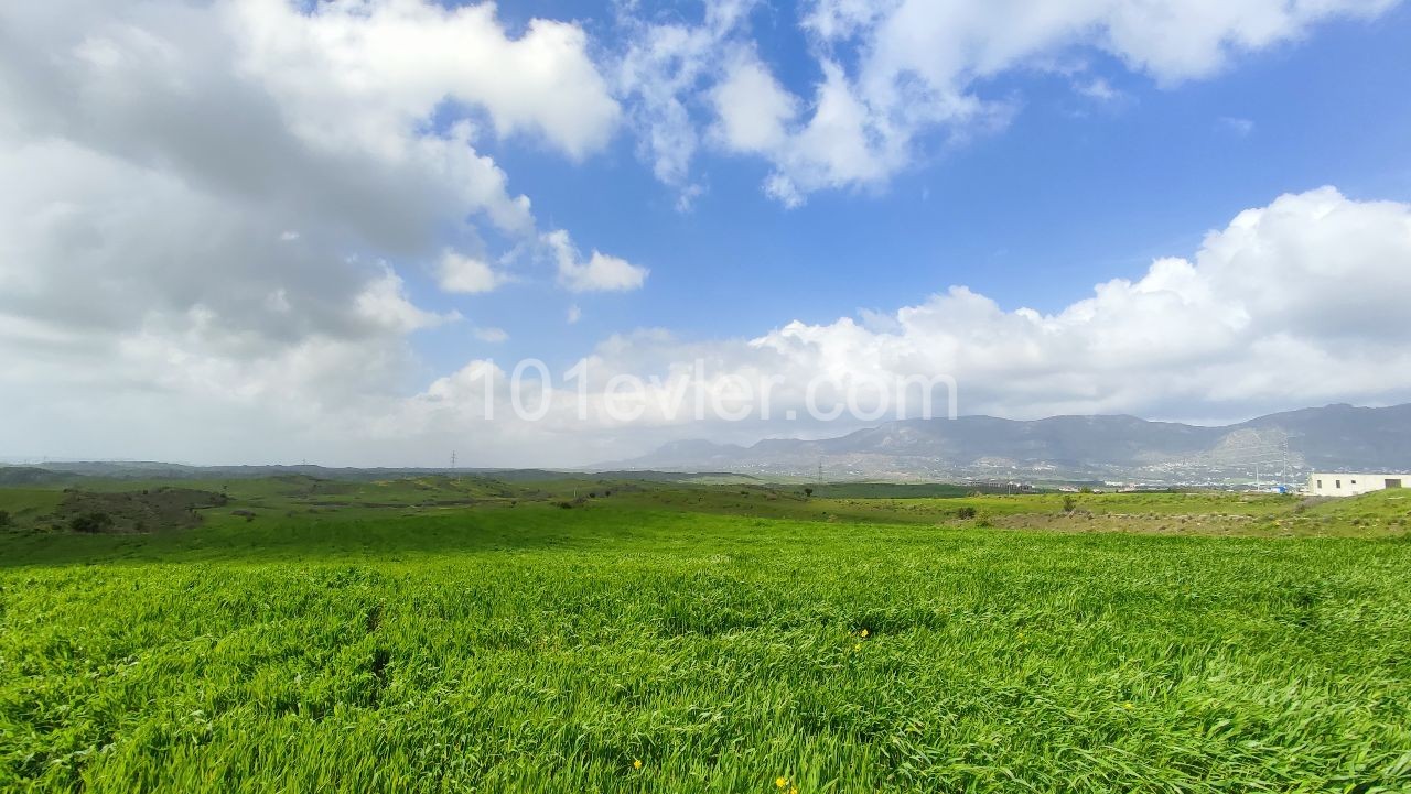
[[[224,506],[223,494],[193,488],[154,488],[104,494],[69,491],[51,516],[52,526],[76,532],[161,532],[200,526],[198,511]]]

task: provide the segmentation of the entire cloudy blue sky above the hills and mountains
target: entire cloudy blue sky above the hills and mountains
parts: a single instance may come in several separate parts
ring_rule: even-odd
[[[1411,402],[1408,44],[1397,0],[0,3],[0,460]]]

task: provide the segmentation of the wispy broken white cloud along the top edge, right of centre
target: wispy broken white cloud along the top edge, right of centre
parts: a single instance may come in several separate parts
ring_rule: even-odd
[[[885,183],[935,138],[1003,127],[1015,103],[983,86],[1006,72],[1058,69],[1074,52],[1096,51],[1173,86],[1397,1],[813,0],[799,25],[821,79],[792,89],[752,56],[751,6],[732,1],[708,6],[694,27],[639,24],[625,61],[628,100],[663,182],[686,179],[704,126],[725,149],[762,157],[765,192],[797,206],[817,190]],[[1075,85],[1096,100],[1122,97],[1099,76]]]

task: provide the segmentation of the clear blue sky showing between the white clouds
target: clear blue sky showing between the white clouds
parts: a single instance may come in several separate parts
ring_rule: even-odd
[[[674,6],[662,16],[700,17],[696,3]],[[612,10],[597,3],[501,11],[511,25],[538,14],[614,30]],[[804,92],[818,72],[787,17],[787,7],[759,8],[751,27],[765,59]],[[751,158],[701,155],[708,190],[679,212],[629,135],[583,164],[499,141],[488,151],[539,214],[584,245],[649,267],[649,286],[571,298],[526,283],[436,303],[423,283],[429,303],[502,327],[511,343],[478,343],[461,327],[418,341],[444,365],[467,353],[570,361],[641,326],[753,337],[793,319],[889,312],[951,285],[1055,312],[1096,282],[1139,278],[1153,258],[1189,255],[1208,230],[1285,192],[1336,185],[1352,197],[1411,199],[1408,41],[1411,7],[1400,6],[1370,23],[1322,24],[1170,87],[1072,48],[1091,63],[1078,80],[1101,78],[1122,96],[1084,96],[1065,75],[1006,75],[983,89],[1017,99],[1005,128],[961,144],[937,133],[919,142],[928,154],[888,183],[820,193],[797,209],[762,193],[768,165]],[[540,322],[545,305],[580,305],[581,324]]]

